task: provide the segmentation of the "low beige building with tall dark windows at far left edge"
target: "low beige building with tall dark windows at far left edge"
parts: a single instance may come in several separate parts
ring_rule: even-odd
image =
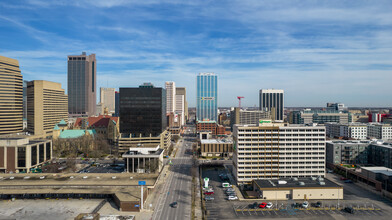
[[[28,137],[0,138],[0,172],[26,172],[52,159],[52,141]]]

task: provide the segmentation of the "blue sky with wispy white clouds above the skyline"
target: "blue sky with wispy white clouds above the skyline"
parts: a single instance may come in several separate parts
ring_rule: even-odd
[[[67,88],[67,55],[97,56],[99,87],[187,88],[219,76],[219,106],[392,106],[392,1],[0,1],[0,55]]]

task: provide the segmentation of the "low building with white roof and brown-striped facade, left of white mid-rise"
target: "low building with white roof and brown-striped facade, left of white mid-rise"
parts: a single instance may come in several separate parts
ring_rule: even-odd
[[[200,151],[203,157],[231,157],[233,156],[233,141],[228,139],[201,140]]]

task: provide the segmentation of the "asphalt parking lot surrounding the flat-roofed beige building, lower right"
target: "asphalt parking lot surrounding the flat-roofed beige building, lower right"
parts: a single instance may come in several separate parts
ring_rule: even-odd
[[[210,167],[202,170],[202,177],[210,179],[209,185],[213,187],[213,201],[204,201],[207,219],[259,219],[259,218],[292,218],[292,219],[390,219],[392,202],[379,195],[363,190],[355,183],[344,183],[336,176],[330,179],[344,186],[344,200],[322,200],[318,208],[312,206],[317,201],[310,200],[308,208],[293,207],[300,200],[265,201],[265,200],[235,200],[228,201],[222,180],[219,174],[227,172],[224,167]],[[203,183],[202,183],[203,184]],[[257,202],[272,202],[273,207],[252,208],[251,204]],[[352,207],[354,213],[348,213],[345,207]]]

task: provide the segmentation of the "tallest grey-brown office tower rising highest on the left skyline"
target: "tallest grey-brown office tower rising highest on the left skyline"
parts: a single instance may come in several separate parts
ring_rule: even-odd
[[[93,116],[97,104],[95,54],[68,56],[68,112]]]

